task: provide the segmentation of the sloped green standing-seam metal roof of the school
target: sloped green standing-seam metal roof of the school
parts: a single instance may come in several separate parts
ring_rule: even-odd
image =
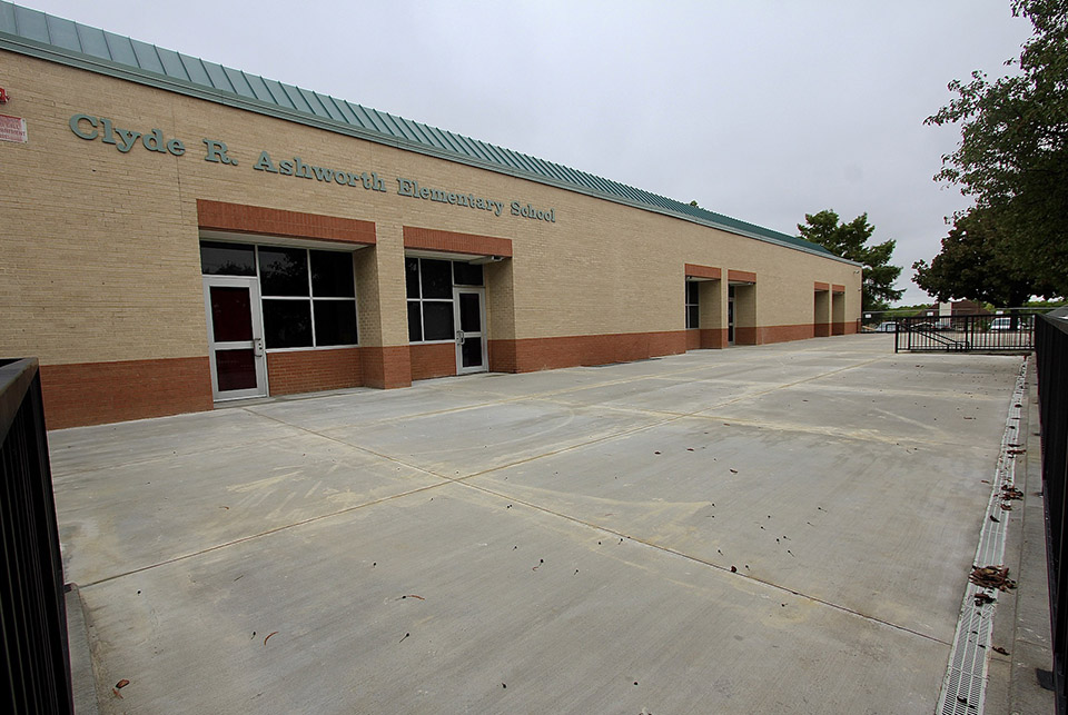
[[[795,236],[2,0],[0,48],[839,258]]]

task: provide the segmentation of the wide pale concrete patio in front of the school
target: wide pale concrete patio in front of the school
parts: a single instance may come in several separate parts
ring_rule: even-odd
[[[892,339],[51,433],[100,709],[931,713],[1020,358]]]

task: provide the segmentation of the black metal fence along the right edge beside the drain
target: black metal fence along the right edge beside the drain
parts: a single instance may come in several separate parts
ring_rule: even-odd
[[[1035,326],[1038,403],[1042,435],[1042,494],[1046,497],[1046,558],[1054,645],[1057,712],[1068,713],[1068,308],[1042,316]]]

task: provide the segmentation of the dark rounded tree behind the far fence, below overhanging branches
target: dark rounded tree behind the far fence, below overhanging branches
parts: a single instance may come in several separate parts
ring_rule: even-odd
[[[912,264],[913,282],[938,300],[968,298],[1003,308],[1022,306],[1032,295],[1046,292],[1046,286],[1020,265],[996,219],[993,212],[975,208],[958,216],[930,265]]]

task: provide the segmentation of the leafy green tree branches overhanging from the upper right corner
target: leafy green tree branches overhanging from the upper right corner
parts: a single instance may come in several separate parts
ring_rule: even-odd
[[[934,178],[975,198],[983,224],[997,226],[991,246],[1041,295],[1068,296],[1068,0],[1013,0],[1012,14],[1035,29],[1006,62],[1019,73],[953,80],[957,97],[926,121],[961,129]]]

